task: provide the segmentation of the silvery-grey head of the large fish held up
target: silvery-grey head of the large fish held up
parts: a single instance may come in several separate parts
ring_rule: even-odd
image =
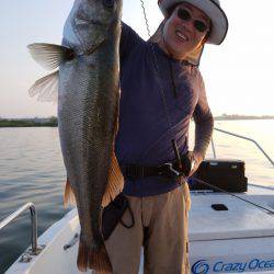
[[[73,31],[82,52],[90,53],[119,25],[122,0],[81,0],[73,19]]]

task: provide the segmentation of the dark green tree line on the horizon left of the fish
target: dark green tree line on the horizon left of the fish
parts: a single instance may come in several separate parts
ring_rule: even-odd
[[[1,118],[0,127],[56,127],[58,126],[57,117],[48,118]]]

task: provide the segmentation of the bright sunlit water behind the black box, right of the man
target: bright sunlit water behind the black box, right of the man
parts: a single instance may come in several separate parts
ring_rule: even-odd
[[[274,119],[215,122],[215,127],[256,140],[274,161]],[[274,186],[274,168],[253,142],[218,132],[214,133],[214,141],[218,158],[246,161],[249,182]],[[212,149],[208,157],[213,157]]]

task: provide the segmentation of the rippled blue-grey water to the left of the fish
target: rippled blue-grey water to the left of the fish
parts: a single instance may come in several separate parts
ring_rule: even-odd
[[[38,213],[38,233],[64,216],[66,173],[56,128],[0,128],[0,219],[27,202]],[[0,273],[31,242],[30,213],[0,231]]]

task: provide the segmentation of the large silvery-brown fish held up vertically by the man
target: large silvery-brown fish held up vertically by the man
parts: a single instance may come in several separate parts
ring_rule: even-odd
[[[122,190],[114,153],[119,102],[122,0],[76,0],[64,27],[62,45],[32,44],[33,58],[54,71],[30,94],[55,99],[67,170],[65,201],[73,193],[81,235],[78,267],[112,271],[101,232],[101,215]]]

